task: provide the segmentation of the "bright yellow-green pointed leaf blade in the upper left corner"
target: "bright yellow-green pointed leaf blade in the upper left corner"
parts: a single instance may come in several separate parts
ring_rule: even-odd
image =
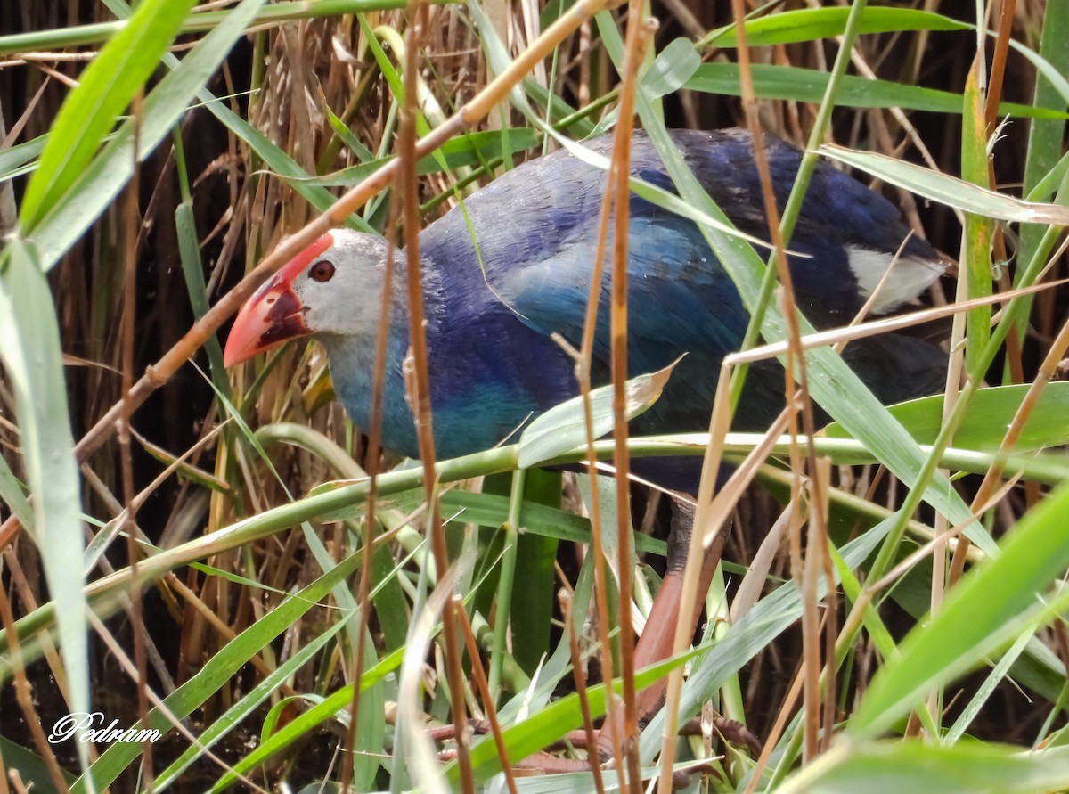
[[[129,22],[81,73],[26,186],[19,216],[24,233],[37,231],[67,195],[104,136],[156,71],[192,5],[193,0],[142,0]]]

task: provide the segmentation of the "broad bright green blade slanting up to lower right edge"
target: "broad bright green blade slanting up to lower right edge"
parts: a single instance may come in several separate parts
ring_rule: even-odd
[[[940,611],[907,636],[899,655],[872,678],[850,721],[852,736],[886,731],[926,692],[974,669],[1067,606],[1064,593],[1052,601],[1043,598],[1069,566],[1067,510],[1069,484],[1026,513],[1002,541],[1002,553],[966,574]]]

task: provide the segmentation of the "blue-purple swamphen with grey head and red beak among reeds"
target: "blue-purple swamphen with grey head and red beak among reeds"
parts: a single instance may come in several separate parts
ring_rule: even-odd
[[[749,134],[680,131],[672,140],[734,225],[768,239]],[[588,146],[604,154],[611,140],[603,137]],[[772,137],[765,147],[783,207],[801,153]],[[634,175],[671,189],[641,132],[634,137],[631,168]],[[558,151],[512,169],[468,198],[467,217],[453,210],[420,234],[439,456],[492,447],[529,417],[576,394],[574,363],[551,334],[578,345],[604,183],[602,170]],[[853,318],[893,261],[874,314],[913,300],[946,264],[910,235],[890,202],[826,164],[812,174],[789,248],[796,254],[790,268],[799,304],[824,327]],[[324,235],[243,307],[227,341],[227,364],[313,334],[326,347],[337,395],[353,421],[367,428],[385,255],[385,241],[371,234],[339,229]],[[748,315],[697,227],[634,195],[628,255],[629,370],[651,372],[686,353],[661,399],[632,422],[632,432],[703,430],[721,360],[738,349]],[[393,292],[382,439],[387,448],[415,456],[402,375],[408,348],[403,278],[394,279]],[[608,381],[608,294],[606,275],[592,368],[603,383]],[[852,342],[845,356],[884,402],[942,388],[945,355],[923,339],[886,334]],[[755,368],[735,427],[764,429],[783,408],[783,392],[781,370]],[[662,485],[693,492],[699,465],[697,458],[654,459],[636,461],[635,468]],[[654,605],[664,610],[656,612],[663,625],[673,626],[678,616],[677,607],[661,599],[671,593],[678,598],[679,572],[669,561],[665,584],[677,577],[677,586],[664,586]],[[668,652],[650,647],[647,640],[639,641],[636,667]]]

